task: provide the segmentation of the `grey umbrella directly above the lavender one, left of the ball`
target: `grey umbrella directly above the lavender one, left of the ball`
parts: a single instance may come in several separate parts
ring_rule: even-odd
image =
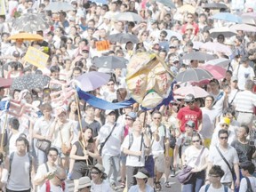
[[[101,56],[99,58],[95,58],[93,63],[97,68],[126,68],[126,63],[128,60],[125,60],[122,57],[116,56]]]

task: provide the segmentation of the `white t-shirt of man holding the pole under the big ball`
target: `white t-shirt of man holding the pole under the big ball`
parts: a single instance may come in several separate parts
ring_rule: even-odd
[[[130,142],[130,133],[124,138],[124,142],[122,144],[122,149],[123,148],[129,148],[129,142]],[[130,150],[132,151],[140,151],[140,144],[141,144],[141,135],[139,137],[136,137],[133,134],[133,141]],[[142,144],[141,151],[145,151],[144,145]],[[145,165],[145,154],[142,152],[142,156],[140,156],[140,161],[139,161],[139,156],[127,156],[126,158],[126,166],[136,166],[136,167],[143,167]]]

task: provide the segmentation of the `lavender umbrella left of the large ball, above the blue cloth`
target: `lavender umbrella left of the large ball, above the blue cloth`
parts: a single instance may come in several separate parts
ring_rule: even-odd
[[[84,92],[90,92],[99,88],[103,84],[107,84],[110,77],[110,75],[105,73],[91,71],[89,73],[85,73],[81,76],[76,77],[76,80],[80,82],[81,90],[83,90]]]

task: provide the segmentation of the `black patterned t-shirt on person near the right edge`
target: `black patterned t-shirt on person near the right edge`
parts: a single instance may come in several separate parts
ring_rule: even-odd
[[[255,147],[250,146],[249,142],[247,144],[243,144],[238,140],[234,140],[231,143],[231,146],[233,148],[236,148],[236,152],[237,152],[240,163],[244,161],[252,161],[252,155],[255,152]]]

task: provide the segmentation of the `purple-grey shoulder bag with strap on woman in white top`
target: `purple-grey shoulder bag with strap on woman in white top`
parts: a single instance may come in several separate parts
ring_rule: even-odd
[[[204,147],[202,148],[199,156],[197,157],[196,159],[196,164],[195,165],[198,165],[199,162],[200,162],[200,158],[202,156],[204,152]],[[177,175],[177,180],[179,180],[179,182],[181,184],[184,184],[184,183],[187,183],[188,180],[191,179],[191,177],[193,176],[193,173],[194,172],[191,172],[191,170],[193,169],[193,167],[189,166],[189,165],[185,165],[184,168],[179,172],[179,174]]]

